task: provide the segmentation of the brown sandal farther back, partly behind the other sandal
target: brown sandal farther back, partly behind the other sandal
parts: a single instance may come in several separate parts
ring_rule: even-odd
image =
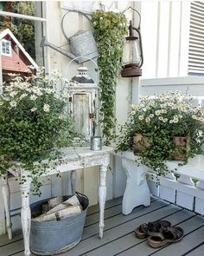
[[[138,239],[145,239],[152,233],[158,233],[161,227],[171,226],[168,220],[156,220],[154,222],[143,223],[135,230],[135,235]]]

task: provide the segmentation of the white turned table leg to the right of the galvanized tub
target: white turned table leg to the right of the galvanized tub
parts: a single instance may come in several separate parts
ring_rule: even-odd
[[[100,219],[99,219],[99,238],[103,238],[104,233],[104,211],[105,211],[105,199],[106,199],[106,173],[108,165],[110,163],[110,157],[105,159],[103,165],[100,166],[99,174],[99,208],[100,208]]]

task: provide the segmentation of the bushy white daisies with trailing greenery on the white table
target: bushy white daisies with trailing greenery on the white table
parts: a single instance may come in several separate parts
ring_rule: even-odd
[[[26,80],[14,75],[0,96],[0,174],[20,163],[32,176],[35,193],[40,192],[38,177],[48,167],[41,162],[61,158],[57,148],[72,141],[73,122],[64,115],[67,99],[57,94],[59,82],[58,73],[44,75],[38,69]]]

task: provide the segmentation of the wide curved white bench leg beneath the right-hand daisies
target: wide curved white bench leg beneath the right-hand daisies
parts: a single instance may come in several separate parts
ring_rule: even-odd
[[[145,178],[146,167],[138,167],[135,161],[124,158],[122,164],[127,175],[122,212],[127,215],[140,205],[150,206],[150,189]]]

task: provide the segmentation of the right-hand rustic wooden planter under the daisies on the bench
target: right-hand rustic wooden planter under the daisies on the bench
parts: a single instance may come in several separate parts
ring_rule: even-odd
[[[188,148],[189,148],[189,143],[188,143],[187,137],[175,136],[173,141],[175,144],[175,154],[173,156],[173,160],[185,161],[186,154],[187,154]]]

